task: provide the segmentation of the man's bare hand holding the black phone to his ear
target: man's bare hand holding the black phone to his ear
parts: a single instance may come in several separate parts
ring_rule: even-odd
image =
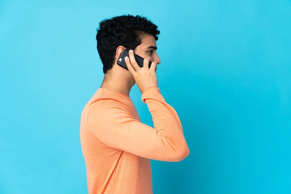
[[[133,50],[129,51],[129,57],[125,57],[125,63],[127,65],[127,69],[132,74],[137,86],[140,91],[144,93],[144,91],[151,86],[158,86],[158,80],[156,75],[156,67],[157,62],[152,62],[149,67],[150,57],[144,59],[143,67],[139,65],[135,59]]]

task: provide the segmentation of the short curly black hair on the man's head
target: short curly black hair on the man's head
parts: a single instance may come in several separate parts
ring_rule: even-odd
[[[142,42],[143,33],[151,34],[158,40],[160,31],[146,17],[141,16],[116,16],[101,21],[97,29],[97,50],[103,64],[105,74],[114,65],[116,48],[123,46],[135,49]]]

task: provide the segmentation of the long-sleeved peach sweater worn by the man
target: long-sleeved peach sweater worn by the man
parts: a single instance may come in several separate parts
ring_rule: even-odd
[[[89,194],[152,194],[150,159],[189,155],[176,111],[158,87],[142,94],[154,128],[141,123],[128,95],[99,88],[81,114],[80,138]]]

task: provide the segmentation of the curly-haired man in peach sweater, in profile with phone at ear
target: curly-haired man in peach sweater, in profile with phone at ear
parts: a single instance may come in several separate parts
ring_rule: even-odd
[[[178,162],[189,155],[178,114],[158,88],[157,28],[140,16],[100,22],[96,39],[105,77],[83,109],[80,129],[89,194],[152,194],[150,159]],[[129,70],[117,65],[124,49],[130,50]],[[145,58],[143,68],[134,53]],[[130,100],[135,83],[154,128],[141,123]]]

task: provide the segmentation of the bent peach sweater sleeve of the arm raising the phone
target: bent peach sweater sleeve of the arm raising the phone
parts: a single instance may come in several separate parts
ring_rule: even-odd
[[[104,144],[152,160],[178,162],[189,155],[176,111],[158,87],[142,95],[153,117],[154,128],[135,119],[123,106],[99,100],[89,110],[88,126]]]

